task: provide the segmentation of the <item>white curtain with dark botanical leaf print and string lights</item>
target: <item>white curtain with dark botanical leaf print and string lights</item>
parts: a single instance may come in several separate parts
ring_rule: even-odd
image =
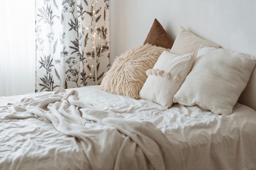
[[[108,0],[36,0],[36,92],[99,84],[109,67]]]

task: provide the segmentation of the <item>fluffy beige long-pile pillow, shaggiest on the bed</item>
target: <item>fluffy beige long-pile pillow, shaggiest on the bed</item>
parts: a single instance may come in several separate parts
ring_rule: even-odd
[[[126,51],[115,58],[99,89],[139,99],[139,91],[147,79],[146,71],[155,65],[164,50],[168,49],[145,44]]]

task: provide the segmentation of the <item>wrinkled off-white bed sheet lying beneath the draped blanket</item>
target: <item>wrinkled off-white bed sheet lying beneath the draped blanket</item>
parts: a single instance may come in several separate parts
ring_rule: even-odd
[[[169,160],[172,163],[170,166],[182,166],[177,164],[180,164],[179,162],[184,159],[187,170],[256,169],[256,112],[247,106],[236,104],[233,110],[234,113],[225,116],[215,115],[198,106],[185,107],[180,104],[174,104],[171,108],[165,109],[146,100],[135,100],[99,91],[97,86],[68,89],[67,92],[72,90],[78,91],[79,102],[83,102],[83,105],[88,107],[81,107],[81,109],[85,109],[83,110],[84,112],[93,113],[93,109],[94,111],[102,110],[103,113],[111,113],[111,119],[144,122],[142,124],[146,124],[145,121],[152,122],[168,137],[168,141],[171,141],[172,146],[175,146],[174,148],[177,148],[177,150],[181,148],[182,153],[179,153],[178,151],[173,152],[173,147],[170,147],[170,154],[178,153],[177,155],[174,154],[175,157],[177,156],[178,162],[175,165],[172,158]],[[44,93],[42,94],[44,95]],[[30,96],[35,97],[35,94],[30,94]],[[0,97],[0,102],[6,102],[9,99],[13,103],[18,100],[17,97],[12,98]],[[39,116],[38,118],[43,120],[40,121],[29,115],[30,113],[25,113],[24,115],[29,118],[13,119],[15,117],[18,118],[21,114],[13,115],[14,112],[10,113],[9,110],[11,111],[10,106],[14,105],[5,105],[6,103],[2,104],[2,108],[0,108],[0,136],[3,136],[0,139],[0,167],[37,169],[40,165],[42,166],[41,169],[88,168],[86,167],[90,162],[88,155],[86,155],[88,143],[82,144],[83,142],[81,143],[79,137],[63,135],[61,132],[56,131],[54,125],[48,121],[49,117]],[[4,117],[5,119],[3,119]],[[93,143],[92,141],[100,142],[99,138],[105,138],[107,141],[114,142],[113,144],[117,143],[115,146],[121,148],[122,142],[112,141],[114,140],[112,135],[117,133],[115,131],[118,131],[118,133],[120,131],[116,130],[115,125],[107,125],[111,132],[110,134],[107,133],[108,130],[105,130],[105,127],[102,126],[109,122],[99,121],[101,118],[97,117],[97,120],[90,120],[90,123],[85,123],[86,128],[90,128],[95,133],[99,132],[99,135],[92,134],[90,136],[92,137],[91,143]],[[106,118],[103,117],[103,119]],[[121,134],[123,136],[119,137],[119,139],[126,143],[124,139],[126,137],[125,133],[121,132]],[[127,143],[132,142],[128,140]],[[102,141],[98,146],[97,149],[92,147],[90,150],[93,152],[104,150],[104,152],[99,153],[103,157],[114,155],[114,152],[110,150],[115,150],[116,148],[108,142]],[[137,146],[137,144],[136,146],[131,144],[127,148],[136,150]],[[110,149],[105,152],[108,147]],[[144,151],[148,151],[150,154],[150,150],[145,149]],[[130,154],[131,151],[127,150],[126,152]],[[91,156],[93,157],[94,154]],[[130,155],[130,157],[136,156]],[[31,160],[27,158],[31,158]],[[139,155],[136,158],[141,162],[146,162],[143,165],[144,167],[150,165],[148,159],[141,160]],[[158,159],[154,155],[153,158]],[[100,159],[98,155],[92,158],[92,160],[97,159]],[[124,157],[121,156],[118,157],[117,161],[120,163],[125,162]],[[88,169],[90,168],[92,167],[90,166]]]

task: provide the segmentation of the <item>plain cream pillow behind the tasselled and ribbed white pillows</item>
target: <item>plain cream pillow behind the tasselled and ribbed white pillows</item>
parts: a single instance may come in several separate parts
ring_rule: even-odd
[[[220,47],[218,44],[213,44],[212,42],[199,38],[180,26],[180,32],[177,34],[170,52],[177,55],[194,53],[194,57],[196,57],[201,45],[217,48]]]

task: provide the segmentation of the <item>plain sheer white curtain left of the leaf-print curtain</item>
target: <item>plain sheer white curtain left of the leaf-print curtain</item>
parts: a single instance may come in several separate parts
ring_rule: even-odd
[[[35,2],[0,5],[0,96],[35,91]]]

